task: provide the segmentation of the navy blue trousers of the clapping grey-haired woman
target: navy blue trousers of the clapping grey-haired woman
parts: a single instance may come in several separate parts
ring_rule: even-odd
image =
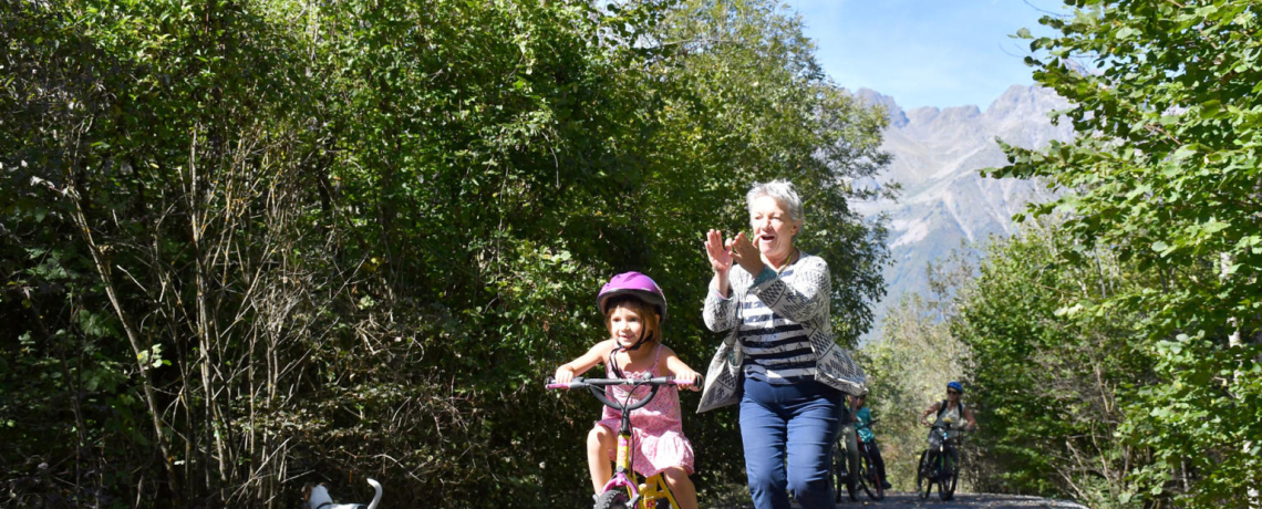
[[[828,465],[840,428],[842,392],[815,380],[772,386],[745,379],[741,440],[750,495],[757,509],[833,509]]]

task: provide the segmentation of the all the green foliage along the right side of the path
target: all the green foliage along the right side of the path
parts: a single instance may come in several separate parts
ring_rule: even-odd
[[[1008,147],[991,173],[1066,190],[1035,210],[1064,223],[1046,247],[996,253],[960,329],[1003,423],[994,443],[1020,466],[1006,481],[1094,479],[1102,505],[1256,505],[1262,4],[1066,4],[1030,63],[1073,102],[1078,137]]]

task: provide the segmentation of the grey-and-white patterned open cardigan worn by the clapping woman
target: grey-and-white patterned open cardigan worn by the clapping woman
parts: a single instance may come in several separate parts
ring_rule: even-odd
[[[747,295],[753,295],[777,315],[800,324],[810,338],[810,349],[815,353],[815,379],[848,394],[863,392],[867,377],[863,369],[842,346],[833,340],[833,328],[829,323],[829,299],[832,277],[828,262],[818,256],[801,253],[795,261],[793,273],[780,277],[770,267],[757,278],[741,266],[733,265],[728,273],[733,297],[724,299],[712,283],[705,296],[702,316],[709,330],[729,331],[711,360],[705,373],[705,388],[697,412],[733,404],[740,401],[740,377],[745,355],[741,352],[740,331],[741,302]],[[721,373],[727,370],[727,373]]]

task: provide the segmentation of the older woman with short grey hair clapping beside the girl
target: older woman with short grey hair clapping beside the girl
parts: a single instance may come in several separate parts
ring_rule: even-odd
[[[740,402],[755,506],[789,508],[791,489],[803,508],[832,508],[828,465],[847,412],[843,394],[863,392],[863,372],[833,341],[828,263],[794,246],[803,212],[793,184],[755,184],[746,200],[748,237],[723,241],[712,229],[705,238],[714,270],[705,325],[729,333],[698,412]],[[846,435],[856,451],[853,428]]]

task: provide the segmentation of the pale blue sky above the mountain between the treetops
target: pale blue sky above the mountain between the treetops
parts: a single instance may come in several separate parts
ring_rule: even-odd
[[[1053,0],[784,0],[803,15],[815,57],[840,86],[892,96],[904,110],[977,105],[1031,84],[1022,63]],[[1040,10],[1041,9],[1041,10]]]

